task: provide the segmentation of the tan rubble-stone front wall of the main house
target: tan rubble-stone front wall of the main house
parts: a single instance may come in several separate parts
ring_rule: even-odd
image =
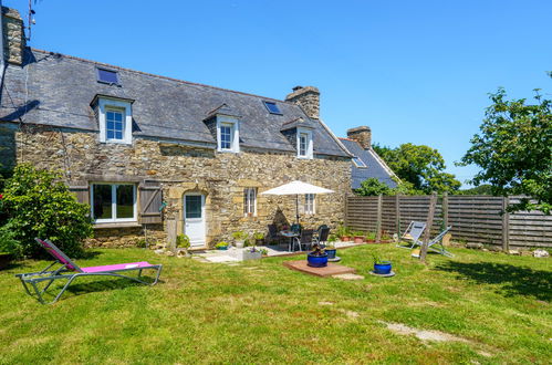
[[[183,231],[183,197],[189,191],[206,195],[207,242],[230,240],[236,230],[267,231],[269,223],[292,223],[295,199],[292,196],[258,195],[257,217],[243,216],[243,189],[262,192],[292,180],[330,188],[335,194],[316,197],[316,212],[302,216],[301,222],[316,228],[335,226],[344,219],[345,194],[351,186],[351,161],[344,158],[299,159],[293,154],[242,150],[217,153],[158,140],[135,138],[133,145],[100,144],[97,134],[34,127],[17,132],[18,161],[40,168],[62,170],[67,180],[94,181],[154,179],[160,181],[164,225],[148,227],[152,237],[166,241],[167,221]],[[139,202],[138,202],[139,204]],[[96,229],[94,246],[132,246],[143,230]],[[174,236],[174,234],[173,234]]]

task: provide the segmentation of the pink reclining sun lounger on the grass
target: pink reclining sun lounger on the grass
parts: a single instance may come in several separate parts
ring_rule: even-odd
[[[29,290],[29,284],[32,286],[34,290],[34,293],[37,294],[37,299],[39,302],[42,304],[53,304],[58,302],[60,296],[65,292],[65,290],[71,285],[71,283],[79,277],[91,277],[91,275],[100,275],[100,277],[116,277],[116,278],[125,278],[129,280],[137,281],[143,284],[147,285],[155,285],[157,281],[159,280],[159,275],[162,273],[163,265],[160,264],[150,264],[147,261],[140,261],[140,262],[132,262],[132,263],[119,263],[119,264],[108,264],[108,265],[103,265],[103,267],[90,267],[90,268],[79,268],[76,263],[74,263],[63,251],[61,251],[55,244],[53,244],[50,240],[41,240],[39,238],[35,238],[37,242],[42,244],[42,247],[55,259],[55,262],[50,264],[48,268],[45,268],[42,271],[39,272],[30,272],[30,273],[21,273],[17,274],[15,277],[21,280],[21,283],[23,284],[23,288],[25,289],[27,293],[31,296],[33,294]],[[50,270],[54,264],[61,264],[61,268],[58,268],[56,270]],[[140,280],[142,278],[142,270],[147,270],[147,269],[154,269],[157,270],[155,274],[155,280],[150,283]],[[122,273],[126,272],[132,272],[132,271],[138,271],[138,277],[133,278],[128,277]],[[66,279],[67,282],[65,285],[62,288],[60,293],[54,298],[53,301],[46,303],[44,301],[44,298],[42,294],[50,288],[50,285],[59,279]],[[41,282],[48,282],[44,289],[40,290],[39,286],[37,285],[38,283]]]

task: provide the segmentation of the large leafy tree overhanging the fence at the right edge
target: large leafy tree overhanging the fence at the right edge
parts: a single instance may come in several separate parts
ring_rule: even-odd
[[[552,74],[550,75],[552,77]],[[493,195],[525,195],[509,211],[537,209],[550,213],[552,208],[552,101],[535,90],[534,104],[525,98],[506,100],[503,88],[490,94],[480,134],[460,166],[481,168],[471,182],[489,182]]]

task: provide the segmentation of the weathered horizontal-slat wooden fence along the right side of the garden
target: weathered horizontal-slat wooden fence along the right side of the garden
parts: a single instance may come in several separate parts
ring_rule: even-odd
[[[415,221],[426,221],[429,196],[351,196],[345,225],[354,230],[404,232]],[[540,211],[503,213],[520,197],[447,196],[437,199],[433,234],[452,226],[456,240],[510,248],[552,248],[552,216]],[[433,236],[431,234],[431,236]]]

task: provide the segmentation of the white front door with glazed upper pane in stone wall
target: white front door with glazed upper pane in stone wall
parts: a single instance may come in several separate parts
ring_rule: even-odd
[[[184,232],[190,238],[191,247],[205,246],[205,196],[184,196]]]

